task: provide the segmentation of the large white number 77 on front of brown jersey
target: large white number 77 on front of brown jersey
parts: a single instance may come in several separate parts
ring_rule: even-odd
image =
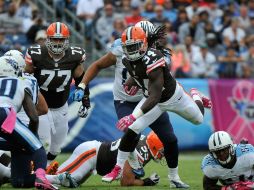
[[[48,91],[48,86],[54,77],[64,77],[63,83],[56,88],[56,92],[61,92],[64,90],[64,87],[67,85],[68,81],[71,78],[71,71],[70,70],[59,70],[59,71],[41,70],[41,75],[47,76],[47,79],[41,85],[41,88],[46,91]]]

